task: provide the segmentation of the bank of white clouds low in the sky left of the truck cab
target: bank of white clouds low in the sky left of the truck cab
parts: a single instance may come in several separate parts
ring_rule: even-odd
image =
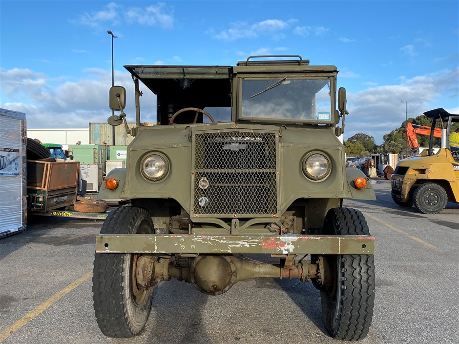
[[[108,90],[111,72],[90,68],[87,77],[77,82],[59,81],[29,69],[1,70],[1,91],[8,102],[0,107],[26,114],[29,128],[87,128],[89,122],[106,122],[111,115]],[[128,121],[135,121],[134,86],[128,73],[115,71],[115,83],[125,86]],[[156,101],[146,87],[142,97],[142,121],[156,121]],[[148,109],[148,110],[146,110]]]

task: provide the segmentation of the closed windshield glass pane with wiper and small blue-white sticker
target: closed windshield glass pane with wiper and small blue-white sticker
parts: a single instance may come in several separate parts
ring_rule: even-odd
[[[328,79],[243,80],[242,118],[332,121]]]

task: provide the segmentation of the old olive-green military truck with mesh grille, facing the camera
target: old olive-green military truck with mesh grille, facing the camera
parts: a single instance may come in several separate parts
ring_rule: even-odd
[[[288,278],[320,290],[332,337],[365,338],[374,237],[343,200],[376,198],[366,176],[345,167],[338,137],[348,112],[344,88],[336,98],[337,68],[297,55],[125,68],[136,126],[127,126],[122,86],[110,89],[110,108],[121,113],[108,122],[124,123],[135,138],[126,168],[107,175],[99,199],[131,203],[112,211],[96,236],[93,299],[102,332],[140,333],[161,281],[221,295],[247,279]],[[156,95],[152,126],[141,122],[145,89]],[[262,256],[246,259],[252,254]]]

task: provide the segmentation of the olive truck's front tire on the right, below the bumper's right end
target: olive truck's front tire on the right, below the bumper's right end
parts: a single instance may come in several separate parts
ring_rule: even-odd
[[[324,234],[370,235],[363,214],[351,208],[327,213]],[[324,256],[324,283],[320,292],[322,313],[331,337],[357,341],[370,329],[375,303],[373,255]]]

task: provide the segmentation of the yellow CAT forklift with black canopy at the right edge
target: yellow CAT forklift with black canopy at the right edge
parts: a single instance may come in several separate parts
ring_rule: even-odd
[[[432,119],[429,148],[397,162],[392,174],[392,199],[403,207],[414,205],[423,214],[438,214],[448,201],[459,202],[459,152],[452,152],[449,135],[459,127],[459,115],[438,108],[424,112]],[[434,151],[441,131],[440,148]]]

